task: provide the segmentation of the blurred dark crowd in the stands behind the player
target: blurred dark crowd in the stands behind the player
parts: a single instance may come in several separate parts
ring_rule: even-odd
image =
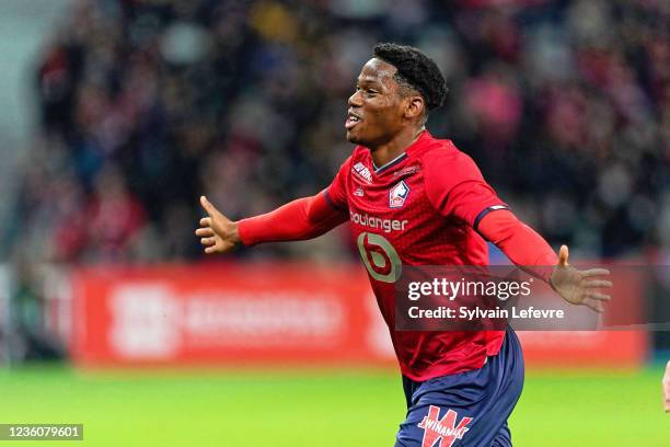
[[[200,256],[200,194],[235,219],[330,183],[355,78],[391,41],[448,79],[430,131],[551,243],[663,252],[669,34],[665,0],[78,1],[36,65],[38,128],[0,249]]]

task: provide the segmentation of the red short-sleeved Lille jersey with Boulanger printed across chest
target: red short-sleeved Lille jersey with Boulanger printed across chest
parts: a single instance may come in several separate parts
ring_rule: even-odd
[[[423,381],[484,366],[503,331],[395,331],[395,288],[402,265],[486,265],[476,232],[492,209],[506,208],[474,161],[450,140],[426,130],[395,160],[376,167],[358,146],[325,192],[349,214],[379,308],[391,331],[401,371]]]

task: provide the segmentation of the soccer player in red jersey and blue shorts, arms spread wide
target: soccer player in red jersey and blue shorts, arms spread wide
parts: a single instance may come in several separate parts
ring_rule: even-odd
[[[425,125],[444,102],[436,64],[408,46],[378,44],[349,98],[346,137],[356,144],[328,187],[276,210],[231,221],[208,214],[196,234],[205,253],[239,244],[315,238],[349,220],[389,325],[407,401],[395,446],[510,446],[507,419],[523,385],[523,358],[507,331],[395,331],[394,282],[403,265],[486,265],[486,241],[534,272],[567,301],[600,309],[604,270],[568,265],[519,221],[473,160]],[[441,443],[441,444],[438,444]]]

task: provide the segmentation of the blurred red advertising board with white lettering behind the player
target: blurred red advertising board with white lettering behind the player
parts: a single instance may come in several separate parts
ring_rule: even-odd
[[[221,264],[72,274],[80,365],[393,365],[388,329],[358,266]],[[643,332],[524,332],[529,366],[634,367]]]

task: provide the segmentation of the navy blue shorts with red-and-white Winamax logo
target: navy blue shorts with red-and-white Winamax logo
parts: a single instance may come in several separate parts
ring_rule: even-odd
[[[508,447],[507,419],[523,388],[523,356],[507,330],[500,352],[481,369],[416,382],[403,377],[407,419],[395,447]]]

